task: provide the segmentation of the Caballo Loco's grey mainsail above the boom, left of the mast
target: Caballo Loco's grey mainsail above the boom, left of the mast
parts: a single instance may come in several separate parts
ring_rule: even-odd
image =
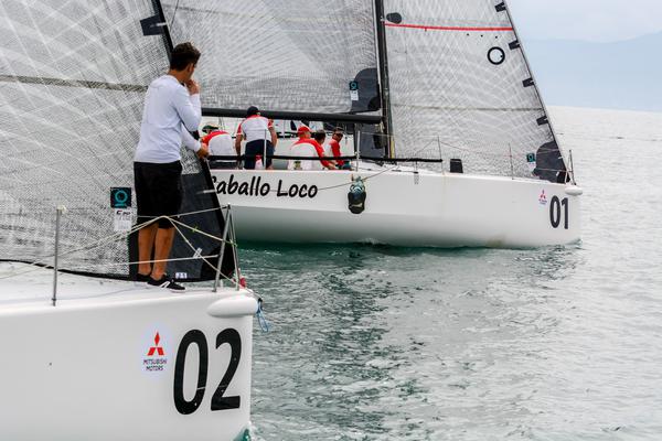
[[[203,107],[327,114],[378,109],[371,0],[162,4],[173,40],[192,41],[202,51],[196,75]]]

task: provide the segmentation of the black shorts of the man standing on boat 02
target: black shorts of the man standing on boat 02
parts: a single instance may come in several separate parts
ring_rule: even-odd
[[[182,205],[182,164],[134,162],[138,223],[158,216],[175,216]],[[159,219],[159,228],[172,228],[169,219]]]

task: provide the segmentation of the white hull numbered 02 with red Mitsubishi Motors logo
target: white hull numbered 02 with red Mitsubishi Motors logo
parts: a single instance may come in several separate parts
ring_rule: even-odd
[[[63,279],[62,291],[93,287],[87,293],[96,297],[54,308],[47,288],[40,288],[43,300],[0,304],[0,439],[243,435],[250,412],[253,295]],[[0,291],[11,297],[15,287]]]

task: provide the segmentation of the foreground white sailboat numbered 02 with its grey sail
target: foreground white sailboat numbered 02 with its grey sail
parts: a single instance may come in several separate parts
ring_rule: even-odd
[[[131,165],[145,92],[168,68],[163,23],[151,0],[0,3],[2,440],[248,430],[258,298],[192,157],[168,272],[199,283],[131,281]]]

